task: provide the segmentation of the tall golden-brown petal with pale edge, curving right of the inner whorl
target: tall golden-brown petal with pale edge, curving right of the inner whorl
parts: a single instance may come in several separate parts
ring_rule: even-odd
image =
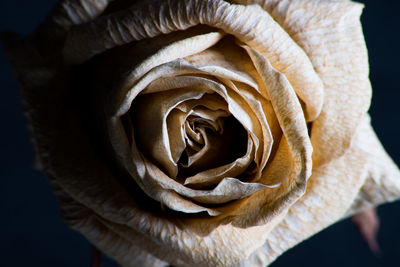
[[[246,215],[236,220],[234,222],[235,225],[267,223],[274,216],[274,213],[278,211],[284,212],[305,193],[306,183],[311,175],[312,168],[312,147],[306,121],[300,102],[291,84],[282,73],[279,73],[271,66],[267,58],[250,47],[245,46],[245,49],[262,76],[271,98],[272,106],[285,136],[284,142],[282,143],[281,140],[281,144],[285,145],[287,142],[286,145],[290,151],[287,149],[282,150],[280,147],[277,155],[280,150],[286,152],[284,153],[284,162],[286,161],[285,165],[289,164],[288,170],[290,171],[288,174],[288,170],[282,172],[279,167],[275,169],[280,174],[285,174],[286,172],[286,175],[280,176],[282,180],[279,182],[282,185],[278,190],[262,191],[252,196],[246,205],[246,209],[237,211]],[[267,168],[266,174],[268,174],[268,171],[269,168]],[[262,178],[264,184],[275,182],[266,181],[266,178],[269,178],[269,176],[266,175],[266,177]]]

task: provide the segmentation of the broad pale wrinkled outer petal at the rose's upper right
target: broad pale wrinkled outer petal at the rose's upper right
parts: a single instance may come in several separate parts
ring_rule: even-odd
[[[362,4],[326,0],[236,2],[257,3],[267,10],[303,48],[324,83],[324,106],[311,132],[314,165],[343,155],[371,98],[367,50],[359,22]]]

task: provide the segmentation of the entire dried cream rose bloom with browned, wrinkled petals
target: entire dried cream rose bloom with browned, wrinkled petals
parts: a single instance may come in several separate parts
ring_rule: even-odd
[[[64,0],[5,41],[65,221],[124,266],[265,266],[400,196],[363,6],[231,2]]]

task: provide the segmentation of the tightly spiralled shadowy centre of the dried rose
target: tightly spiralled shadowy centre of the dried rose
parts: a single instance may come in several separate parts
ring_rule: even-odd
[[[247,131],[215,93],[185,88],[141,94],[130,116],[139,150],[182,183],[248,150]]]

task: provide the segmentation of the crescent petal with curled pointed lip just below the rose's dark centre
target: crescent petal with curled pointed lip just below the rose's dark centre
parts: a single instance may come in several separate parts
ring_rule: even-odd
[[[172,180],[165,175],[159,168],[154,166],[153,163],[140,155],[135,147],[132,145],[132,151],[127,150],[127,137],[118,120],[111,121],[109,124],[109,133],[111,140],[114,140],[113,146],[116,148],[115,153],[120,154],[120,158],[124,159],[122,163],[127,170],[131,173],[132,177],[138,182],[141,188],[152,198],[159,200],[164,205],[171,209],[184,211],[187,213],[207,211],[210,215],[217,215],[218,212],[198,206],[192,202],[185,201],[184,198],[178,195],[171,195],[173,190],[180,195],[189,198],[197,198],[198,201],[207,201],[208,203],[224,203],[232,199],[238,199],[248,196],[251,192],[262,190],[267,186],[256,183],[240,183],[240,186],[232,186],[231,182],[220,184],[213,190],[193,190],[185,187],[184,185]],[[162,190],[160,189],[162,188]],[[222,194],[221,192],[232,191],[230,194]],[[227,200],[229,199],[229,200]]]

